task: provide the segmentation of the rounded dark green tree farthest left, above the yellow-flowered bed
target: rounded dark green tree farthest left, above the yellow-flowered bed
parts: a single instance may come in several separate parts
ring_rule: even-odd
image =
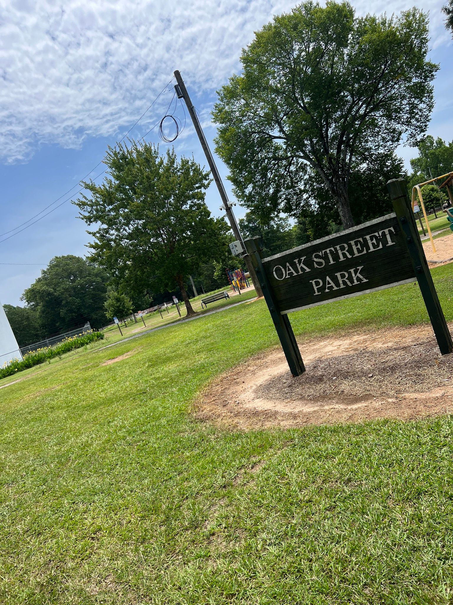
[[[107,273],[91,261],[72,255],[55,257],[22,300],[34,307],[46,335],[86,321],[101,327],[106,320],[107,282]]]

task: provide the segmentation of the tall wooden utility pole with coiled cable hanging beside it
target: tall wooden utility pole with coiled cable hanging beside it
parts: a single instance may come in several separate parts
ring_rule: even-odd
[[[214,162],[213,154],[211,154],[211,150],[208,146],[206,137],[204,132],[202,131],[201,124],[199,122],[198,116],[196,114],[195,108],[192,105],[190,97],[188,96],[187,88],[185,88],[184,81],[182,80],[181,74],[178,70],[175,72],[176,82],[178,84],[175,86],[175,91],[178,96],[178,99],[184,99],[185,105],[187,106],[188,113],[192,119],[193,125],[195,127],[195,131],[198,134],[198,138],[200,140],[203,151],[205,152],[206,159],[208,160],[209,167],[211,169],[212,175],[214,177],[214,181],[216,181],[217,189],[219,189],[220,198],[222,198],[223,206],[222,209],[225,210],[226,216],[228,217],[228,221],[230,221],[231,229],[233,229],[234,237],[236,240],[242,244],[242,248],[245,252],[244,241],[242,239],[242,235],[239,231],[239,225],[237,224],[236,217],[233,214],[233,210],[231,206],[233,204],[228,200],[228,195],[226,195],[225,187],[223,186],[222,179],[220,178],[219,171],[217,170],[216,163]],[[250,277],[252,279],[253,285],[255,286],[255,292],[257,296],[263,296],[263,291],[261,289],[260,282],[255,273],[255,269],[252,265],[251,258],[248,254],[245,253],[243,257],[247,270],[250,273]]]

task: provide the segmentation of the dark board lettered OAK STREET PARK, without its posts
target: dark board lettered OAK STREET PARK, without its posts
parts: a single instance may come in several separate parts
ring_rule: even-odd
[[[405,239],[393,213],[263,258],[280,312],[416,281]]]

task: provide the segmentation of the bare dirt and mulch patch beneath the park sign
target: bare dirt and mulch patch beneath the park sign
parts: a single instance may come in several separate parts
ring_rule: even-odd
[[[305,341],[300,350],[302,376],[291,376],[275,348],[212,382],[196,416],[248,430],[453,412],[453,355],[440,355],[431,326]]]

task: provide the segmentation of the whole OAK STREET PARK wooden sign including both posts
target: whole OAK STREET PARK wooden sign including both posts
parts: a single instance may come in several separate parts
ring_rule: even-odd
[[[418,281],[442,355],[453,342],[420,241],[403,179],[388,181],[394,212],[339,234],[262,258],[260,238],[245,240],[289,369],[305,367],[288,313]]]

